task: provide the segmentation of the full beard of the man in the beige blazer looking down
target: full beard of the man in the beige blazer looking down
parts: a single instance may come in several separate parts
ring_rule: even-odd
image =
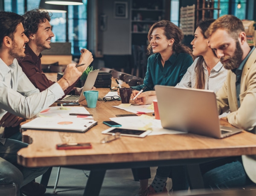
[[[220,61],[225,69],[236,69],[242,62],[243,50],[241,49],[239,41],[236,41],[236,50],[233,56],[221,57]],[[227,61],[226,61],[227,60]],[[226,62],[223,62],[226,61]]]

